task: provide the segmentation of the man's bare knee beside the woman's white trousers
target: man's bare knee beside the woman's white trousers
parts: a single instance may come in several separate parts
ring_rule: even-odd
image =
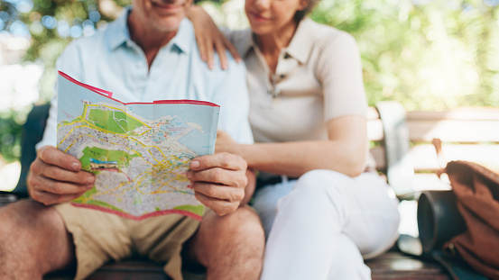
[[[207,267],[207,280],[256,280],[262,272],[265,237],[249,207],[223,217],[208,212],[187,246],[187,255]]]

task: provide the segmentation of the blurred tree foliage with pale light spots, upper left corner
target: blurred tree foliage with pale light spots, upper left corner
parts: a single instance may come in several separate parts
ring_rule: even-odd
[[[31,38],[23,59],[40,61],[45,68],[40,79],[41,97],[52,95],[54,65],[69,41],[90,36],[114,20],[128,0],[2,0],[0,30]]]

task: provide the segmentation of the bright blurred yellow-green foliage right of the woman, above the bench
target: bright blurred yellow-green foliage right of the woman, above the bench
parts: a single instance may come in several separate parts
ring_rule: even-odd
[[[356,37],[371,105],[398,100],[407,110],[499,106],[498,9],[487,5],[323,0],[311,17]]]

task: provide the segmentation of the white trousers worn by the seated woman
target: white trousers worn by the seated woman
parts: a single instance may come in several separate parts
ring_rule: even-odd
[[[374,173],[313,170],[264,186],[253,204],[268,234],[261,280],[370,279],[364,259],[398,238],[397,204]]]

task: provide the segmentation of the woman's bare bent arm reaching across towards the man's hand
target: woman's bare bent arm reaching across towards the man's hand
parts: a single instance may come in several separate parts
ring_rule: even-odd
[[[366,120],[344,116],[327,123],[328,140],[256,143],[241,145],[219,133],[216,150],[245,158],[256,170],[301,176],[314,169],[330,169],[347,176],[358,176],[365,168],[367,149]]]

